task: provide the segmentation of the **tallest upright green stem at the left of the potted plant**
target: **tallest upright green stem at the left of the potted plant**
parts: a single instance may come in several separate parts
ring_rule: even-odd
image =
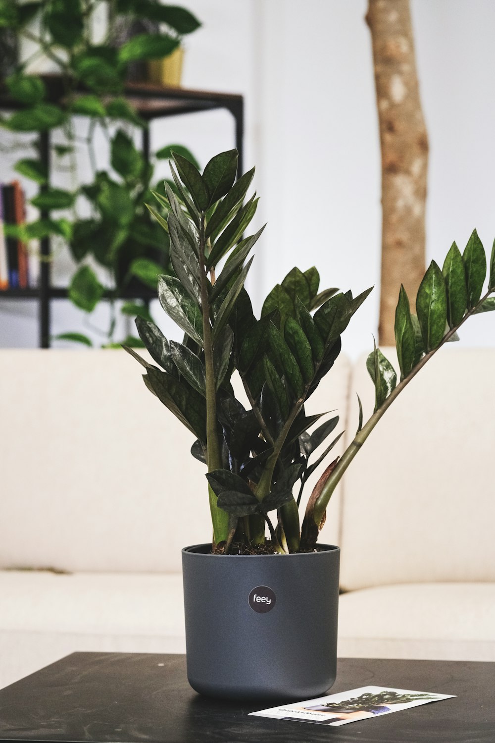
[[[217,391],[215,389],[214,366],[213,366],[213,343],[212,325],[210,324],[210,305],[208,296],[208,284],[205,267],[205,215],[201,215],[200,223],[200,292],[201,312],[203,314],[203,348],[205,352],[205,374],[206,374],[206,442],[208,454],[208,470],[220,470],[222,457],[220,454],[220,443],[217,435]],[[217,507],[217,496],[209,487],[210,512],[213,522],[213,548],[226,542],[229,537],[229,514]]]

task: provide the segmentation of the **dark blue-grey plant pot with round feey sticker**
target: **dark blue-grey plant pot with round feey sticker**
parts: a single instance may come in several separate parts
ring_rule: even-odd
[[[231,699],[304,700],[335,681],[340,549],[212,555],[183,549],[191,687]]]

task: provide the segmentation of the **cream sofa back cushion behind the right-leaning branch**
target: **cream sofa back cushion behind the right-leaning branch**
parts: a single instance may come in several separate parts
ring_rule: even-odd
[[[451,343],[385,413],[344,478],[344,588],[495,580],[494,378],[495,350]],[[355,392],[373,412],[365,357],[349,442]]]

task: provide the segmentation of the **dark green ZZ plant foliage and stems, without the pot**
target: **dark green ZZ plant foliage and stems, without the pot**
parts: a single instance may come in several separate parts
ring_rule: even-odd
[[[191,453],[208,469],[212,551],[313,550],[338,481],[393,400],[444,343],[457,340],[468,317],[495,308],[489,296],[495,291],[495,247],[483,295],[486,259],[476,230],[463,255],[454,243],[443,269],[431,263],[416,314],[401,288],[395,327],[400,380],[375,347],[367,360],[375,411],[363,425],[359,403],[355,438],[319,479],[301,525],[304,484],[340,438],[312,461],[338,418],[310,433],[321,415],[306,415],[304,403],[332,368],[341,334],[371,289],[355,297],[335,288],[319,292],[314,267],[304,273],[294,268],[269,293],[257,319],[244,288],[249,253],[263,232],[243,237],[258,201],[252,195],[244,203],[254,168],[235,181],[235,150],[212,158],[202,174],[177,152],[172,156],[176,191],[165,184],[165,197],[156,194],[163,215],[148,208],[168,233],[175,272],[160,276],[160,303],[185,335],[183,343],[169,343],[157,325],[138,317],[140,338],[158,366],[126,350],[145,367],[148,389],[197,437]],[[235,397],[235,370],[248,409]]]

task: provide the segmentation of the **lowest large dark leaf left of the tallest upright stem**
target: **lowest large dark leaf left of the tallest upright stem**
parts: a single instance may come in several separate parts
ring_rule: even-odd
[[[166,371],[148,369],[146,376],[157,398],[202,444],[206,444],[206,400],[203,395]]]

